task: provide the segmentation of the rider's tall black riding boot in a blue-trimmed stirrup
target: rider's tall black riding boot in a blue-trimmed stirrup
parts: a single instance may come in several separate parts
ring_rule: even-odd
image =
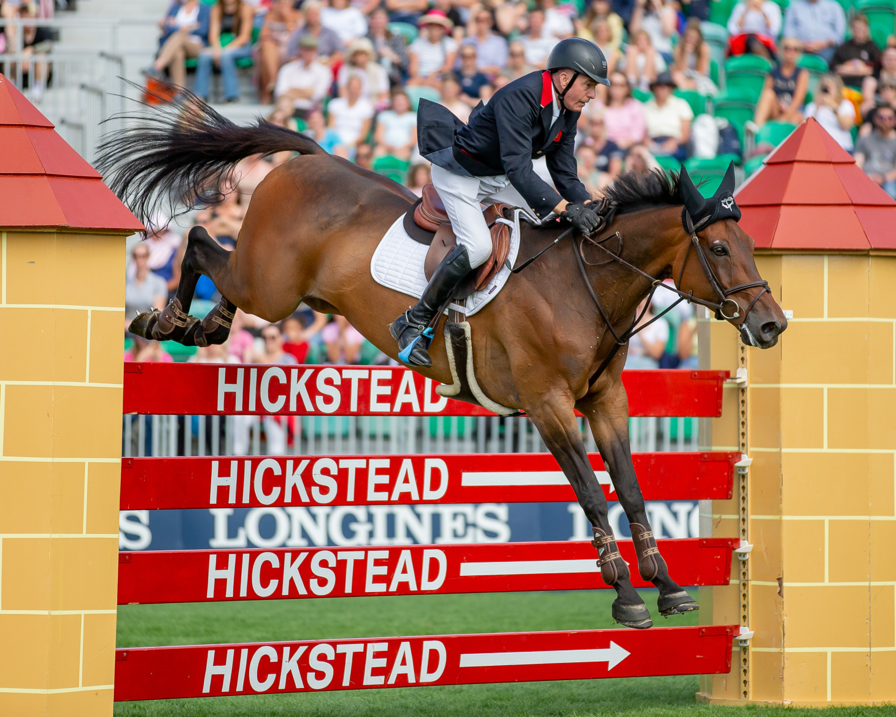
[[[420,300],[392,322],[389,331],[398,341],[398,358],[402,363],[426,368],[433,365],[432,358],[426,353],[433,341],[429,323],[471,271],[467,247],[455,246],[436,267]]]

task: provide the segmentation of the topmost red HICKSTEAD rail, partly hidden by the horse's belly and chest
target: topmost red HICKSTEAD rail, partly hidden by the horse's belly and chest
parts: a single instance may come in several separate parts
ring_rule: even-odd
[[[625,371],[631,416],[721,415],[728,371]],[[404,367],[125,362],[125,413],[490,416]]]

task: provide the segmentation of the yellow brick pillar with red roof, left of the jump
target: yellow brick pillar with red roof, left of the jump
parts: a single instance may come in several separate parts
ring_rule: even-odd
[[[0,75],[0,714],[110,715],[125,237]]]

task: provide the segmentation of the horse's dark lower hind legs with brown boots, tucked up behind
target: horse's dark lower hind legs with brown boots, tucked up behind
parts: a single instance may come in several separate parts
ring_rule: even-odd
[[[208,346],[224,343],[237,310],[235,304],[223,296],[202,321],[187,315],[196,282],[200,274],[219,273],[228,262],[229,252],[221,247],[202,227],[194,227],[187,238],[184,260],[180,265],[180,283],[175,298],[162,311],[151,311],[137,316],[130,331],[138,336],[158,341],[178,341],[185,346]]]

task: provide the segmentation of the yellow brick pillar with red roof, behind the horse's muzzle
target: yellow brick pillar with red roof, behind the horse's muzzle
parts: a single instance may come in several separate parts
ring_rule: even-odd
[[[701,325],[702,365],[746,378],[702,439],[753,461],[704,505],[703,534],[754,546],[701,590],[702,621],[754,633],[731,674],[702,678],[711,702],[896,701],[896,203],[811,123],[736,195],[787,331],[758,350]]]

